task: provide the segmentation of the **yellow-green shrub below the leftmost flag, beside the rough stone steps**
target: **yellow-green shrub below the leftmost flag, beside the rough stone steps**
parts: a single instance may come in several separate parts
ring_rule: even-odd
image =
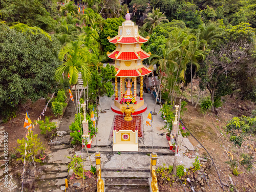
[[[19,144],[18,147],[15,148],[17,152],[20,153],[23,157],[18,158],[17,161],[22,160],[24,162],[24,154],[25,154],[25,143],[27,143],[26,151],[27,155],[25,156],[25,159],[27,162],[32,161],[32,157],[35,162],[41,162],[40,159],[36,159],[35,156],[42,154],[42,151],[45,150],[44,145],[42,145],[42,142],[40,142],[40,139],[37,138],[37,135],[33,135],[33,131],[29,132],[28,140],[26,141],[24,138],[22,140],[17,140],[17,143]],[[31,157],[32,156],[32,157]]]

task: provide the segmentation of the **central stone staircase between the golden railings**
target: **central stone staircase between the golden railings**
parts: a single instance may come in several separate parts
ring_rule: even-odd
[[[150,169],[108,169],[102,168],[106,192],[146,192],[150,191],[148,178]]]

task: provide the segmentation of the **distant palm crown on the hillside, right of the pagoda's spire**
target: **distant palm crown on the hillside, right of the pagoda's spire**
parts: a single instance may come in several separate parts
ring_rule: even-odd
[[[165,15],[156,8],[152,10],[152,13],[148,13],[147,18],[144,19],[143,29],[148,29],[148,32],[151,34],[155,27],[159,25],[161,22],[169,22],[166,19]]]

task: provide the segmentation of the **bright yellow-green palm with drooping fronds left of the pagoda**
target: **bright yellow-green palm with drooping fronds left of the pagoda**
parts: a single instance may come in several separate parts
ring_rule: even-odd
[[[56,80],[61,80],[63,78],[63,73],[69,73],[69,83],[75,84],[76,89],[78,73],[80,72],[84,86],[87,84],[87,81],[90,81],[90,65],[88,61],[91,59],[91,54],[87,47],[82,46],[82,41],[77,40],[69,42],[62,50],[60,50],[59,59],[62,61],[62,65],[60,65],[55,72]]]

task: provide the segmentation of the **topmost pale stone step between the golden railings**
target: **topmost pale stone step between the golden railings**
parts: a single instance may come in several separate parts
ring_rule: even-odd
[[[105,179],[113,179],[113,178],[141,178],[141,179],[148,179],[151,177],[150,172],[103,172],[101,177],[104,177]]]

